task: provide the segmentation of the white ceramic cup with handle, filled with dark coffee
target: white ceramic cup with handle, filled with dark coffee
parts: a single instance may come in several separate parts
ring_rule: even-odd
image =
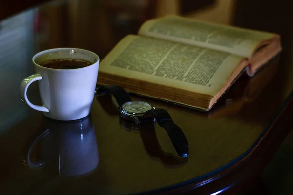
[[[92,64],[76,69],[40,65],[54,59],[83,59]],[[84,49],[56,48],[36,54],[32,61],[35,74],[22,80],[20,85],[20,97],[24,103],[55,120],[77,120],[89,114],[98,78],[98,55]],[[42,106],[32,104],[27,98],[27,89],[34,81],[39,81]]]

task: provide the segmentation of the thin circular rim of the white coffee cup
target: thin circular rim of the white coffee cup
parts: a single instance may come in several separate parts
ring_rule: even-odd
[[[55,69],[55,68],[48,68],[48,67],[44,67],[44,66],[41,66],[40,64],[36,63],[35,62],[35,59],[44,55],[44,54],[47,54],[47,53],[50,53],[50,52],[56,52],[56,51],[66,51],[66,50],[74,50],[74,51],[79,51],[79,52],[85,52],[85,53],[88,53],[90,56],[93,56],[93,58],[95,59],[95,62],[92,63],[91,65],[89,66],[85,66],[83,68],[74,68],[74,69]],[[95,65],[97,62],[100,61],[100,58],[99,56],[92,52],[92,51],[89,51],[89,50],[86,50],[86,49],[81,49],[81,48],[74,48],[74,47],[60,47],[60,48],[53,48],[53,49],[47,49],[47,50],[43,50],[41,52],[38,52],[37,54],[35,54],[32,58],[32,62],[34,65],[38,66],[38,67],[41,67],[41,68],[44,68],[44,69],[47,69],[47,70],[51,70],[51,71],[80,71],[80,70],[84,70],[84,69],[88,69],[90,67],[92,67],[93,65]]]

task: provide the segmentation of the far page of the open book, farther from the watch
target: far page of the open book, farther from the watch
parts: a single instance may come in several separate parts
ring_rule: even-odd
[[[138,34],[211,48],[248,58],[260,42],[275,36],[271,33],[179,16],[148,20],[142,25]]]

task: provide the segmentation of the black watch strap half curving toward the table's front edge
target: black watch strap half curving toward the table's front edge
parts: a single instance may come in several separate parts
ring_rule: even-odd
[[[149,120],[150,118],[156,118],[158,124],[167,131],[167,134],[170,137],[178,155],[180,157],[188,157],[187,139],[180,127],[178,127],[173,122],[169,113],[161,108],[148,110],[141,118],[141,122],[143,122],[144,120]]]

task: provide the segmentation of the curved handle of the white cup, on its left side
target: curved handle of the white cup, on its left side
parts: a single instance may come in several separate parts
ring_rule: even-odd
[[[22,81],[21,81],[21,86],[20,86],[20,97],[21,97],[21,100],[27,104],[29,107],[31,107],[32,109],[35,109],[37,111],[42,111],[42,112],[49,112],[49,109],[44,107],[44,106],[37,106],[37,105],[34,105],[32,104],[28,98],[27,98],[27,89],[29,87],[29,85],[31,83],[33,83],[34,81],[37,81],[37,80],[42,80],[42,76],[39,75],[39,74],[33,74],[27,78],[24,78]]]

